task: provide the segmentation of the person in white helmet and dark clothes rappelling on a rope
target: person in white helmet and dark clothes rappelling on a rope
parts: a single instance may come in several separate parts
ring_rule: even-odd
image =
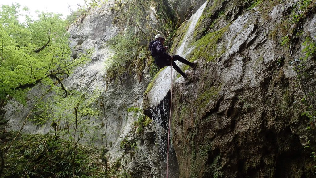
[[[167,47],[163,46],[164,43],[165,38],[160,34],[155,35],[155,40],[149,42],[150,54],[155,59],[155,64],[158,67],[163,68],[166,66],[170,66],[170,64],[172,63],[172,67],[185,79],[188,79],[188,72],[183,72],[174,61],[179,60],[180,62],[189,65],[194,70],[197,67],[197,60],[195,60],[194,62],[190,62],[179,55],[170,56],[166,52]]]

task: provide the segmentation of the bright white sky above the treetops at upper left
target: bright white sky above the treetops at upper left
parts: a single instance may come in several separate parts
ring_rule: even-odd
[[[21,8],[28,7],[31,10],[31,16],[36,18],[36,10],[54,12],[63,14],[66,18],[70,14],[69,5],[72,10],[78,8],[77,4],[84,4],[84,0],[0,0],[0,7],[5,5],[11,5],[12,3],[21,4]]]

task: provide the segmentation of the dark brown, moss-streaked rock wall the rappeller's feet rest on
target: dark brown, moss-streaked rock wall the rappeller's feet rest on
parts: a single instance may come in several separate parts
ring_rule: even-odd
[[[301,115],[307,108],[301,104],[289,50],[279,42],[286,35],[287,12],[295,4],[263,1],[247,8],[244,1],[208,2],[192,35],[194,49],[187,55],[199,60],[198,66],[193,71],[180,64],[190,79],[173,78],[172,139],[179,177],[312,177],[311,150],[304,149],[309,121]],[[314,13],[301,21],[305,35],[316,34]],[[201,30],[205,27],[206,32]],[[180,30],[175,41],[183,35]],[[303,42],[301,37],[291,44],[295,59],[304,55]],[[173,45],[177,50],[180,44]],[[308,93],[313,91],[315,64],[307,65],[309,76],[301,81]],[[154,80],[149,85],[145,111],[161,103],[150,99],[155,86],[165,83]]]

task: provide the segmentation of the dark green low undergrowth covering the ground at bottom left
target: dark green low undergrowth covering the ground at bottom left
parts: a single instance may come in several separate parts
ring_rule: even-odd
[[[9,133],[1,145],[6,146],[15,136]],[[94,153],[88,151],[91,146],[79,145],[76,149],[76,175],[80,177],[101,178],[106,174]],[[94,150],[98,150],[94,148]],[[72,175],[72,157],[74,148],[67,140],[55,140],[46,135],[21,135],[5,154],[6,166],[3,178],[20,177],[56,177],[66,178]]]

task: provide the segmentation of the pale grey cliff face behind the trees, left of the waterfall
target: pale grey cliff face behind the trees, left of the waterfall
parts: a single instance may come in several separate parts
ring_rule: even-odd
[[[63,84],[68,90],[93,93],[99,89],[101,92],[100,97],[104,99],[102,104],[105,108],[103,111],[99,105],[93,106],[100,108],[101,111],[100,118],[96,118],[99,120],[96,125],[99,129],[94,143],[105,147],[110,168],[112,165],[120,165],[117,167],[117,175],[125,170],[133,177],[160,177],[154,143],[155,124],[152,122],[151,126],[146,127],[143,134],[139,135],[133,126],[137,121],[137,115],[133,111],[127,111],[130,107],[142,107],[143,93],[148,81],[138,82],[136,75],[133,75],[123,84],[107,85],[105,79],[105,61],[112,55],[105,42],[119,33],[119,27],[112,23],[116,16],[111,10],[114,3],[107,1],[101,7],[90,10],[87,16],[70,27],[70,47],[73,49],[73,57],[76,58],[77,53],[84,49],[93,48],[94,53],[91,62],[76,68],[74,73],[63,80]],[[29,98],[33,98],[34,94],[40,96],[44,89],[45,86],[41,85],[34,87],[28,94]],[[52,95],[53,93],[49,94]],[[100,102],[99,99],[98,103]],[[18,130],[35,103],[36,99],[31,99],[23,106],[12,100],[6,105],[4,117],[10,119],[9,125]],[[24,132],[41,134],[51,130],[50,123],[36,126],[31,122],[27,122],[23,129]],[[135,143],[137,151],[123,149],[121,143],[124,141]]]

